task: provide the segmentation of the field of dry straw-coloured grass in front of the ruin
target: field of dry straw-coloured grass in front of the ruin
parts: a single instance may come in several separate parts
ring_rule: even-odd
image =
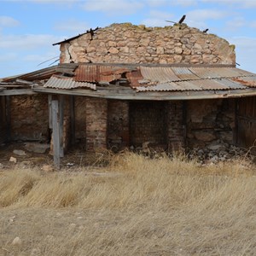
[[[0,255],[255,255],[255,174],[136,154],[97,173],[2,172]]]

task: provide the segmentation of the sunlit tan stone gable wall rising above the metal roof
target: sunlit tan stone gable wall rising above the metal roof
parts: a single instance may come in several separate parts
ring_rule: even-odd
[[[235,64],[235,46],[183,25],[113,24],[61,44],[61,63]]]

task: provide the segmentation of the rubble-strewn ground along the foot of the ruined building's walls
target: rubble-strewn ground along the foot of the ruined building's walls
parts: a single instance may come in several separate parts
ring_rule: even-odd
[[[131,150],[144,154],[147,158],[160,158],[166,154],[164,151],[150,148],[148,143],[145,143],[142,148],[131,148]],[[256,162],[252,148],[251,150],[236,148],[221,140],[214,141],[205,148],[190,149],[185,155],[189,159],[196,159],[201,165],[218,164],[221,161],[234,159]],[[172,157],[171,154],[170,156]],[[70,148],[65,157],[61,159],[61,168],[68,168],[72,171],[83,166],[104,166],[110,157],[111,153],[108,151],[89,154],[79,147]],[[0,146],[0,170],[13,168],[17,164],[24,167],[40,166],[46,172],[53,171],[53,157],[49,154],[49,144],[21,142],[2,144]]]

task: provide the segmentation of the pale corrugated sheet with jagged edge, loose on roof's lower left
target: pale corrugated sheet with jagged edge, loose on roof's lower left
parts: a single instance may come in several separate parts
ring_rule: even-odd
[[[46,84],[44,84],[46,88],[55,88],[55,89],[65,89],[70,90],[74,88],[88,88],[91,90],[96,90],[96,84],[91,84],[87,82],[76,82],[73,78],[64,78],[52,76]]]

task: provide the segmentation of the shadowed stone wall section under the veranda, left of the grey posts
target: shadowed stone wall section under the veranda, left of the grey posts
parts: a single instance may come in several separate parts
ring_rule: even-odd
[[[10,96],[11,140],[49,140],[48,96]]]

